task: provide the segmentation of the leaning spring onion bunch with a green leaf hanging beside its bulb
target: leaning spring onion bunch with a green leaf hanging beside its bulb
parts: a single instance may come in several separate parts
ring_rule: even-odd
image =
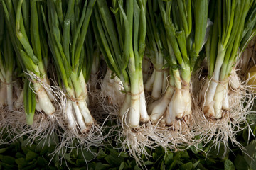
[[[21,64],[23,72],[26,72],[27,79],[33,83],[33,89],[36,93],[36,98],[32,95],[31,100],[26,102],[27,115],[31,115],[33,109],[28,108],[31,108],[35,101],[38,111],[51,115],[55,112],[55,106],[52,103],[54,96],[51,91],[42,86],[42,84],[50,84],[46,71],[48,45],[42,27],[43,20],[40,8],[42,2],[18,0],[1,1],[1,3],[4,8],[6,29],[9,31],[17,61]],[[28,124],[31,123],[31,121],[28,122]]]

